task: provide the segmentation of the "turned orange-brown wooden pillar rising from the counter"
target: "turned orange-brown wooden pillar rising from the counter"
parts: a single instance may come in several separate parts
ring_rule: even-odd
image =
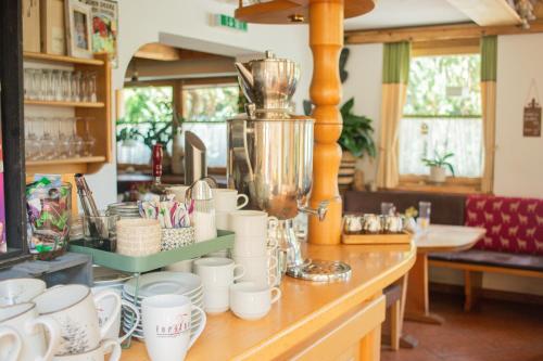
[[[313,79],[310,94],[315,109],[313,190],[310,204],[317,207],[329,201],[324,221],[310,217],[308,241],[339,244],[341,240],[341,197],[338,172],[341,149],[337,141],[342,119],[339,55],[343,48],[343,0],[310,0],[310,47],[313,52]]]

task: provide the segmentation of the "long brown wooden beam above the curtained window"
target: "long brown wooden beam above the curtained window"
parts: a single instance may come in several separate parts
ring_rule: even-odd
[[[454,24],[416,26],[377,30],[345,31],[345,44],[396,42],[396,41],[432,41],[451,39],[480,38],[484,35],[519,35],[543,33],[543,21],[530,23],[529,29],[520,26],[479,26],[477,24]]]

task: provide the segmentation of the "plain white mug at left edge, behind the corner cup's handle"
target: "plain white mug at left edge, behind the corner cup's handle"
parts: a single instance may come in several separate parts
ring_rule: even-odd
[[[0,323],[13,327],[22,337],[17,361],[49,361],[61,341],[59,324],[50,317],[39,315],[34,302],[0,307]],[[5,340],[0,339],[0,349],[7,349]]]

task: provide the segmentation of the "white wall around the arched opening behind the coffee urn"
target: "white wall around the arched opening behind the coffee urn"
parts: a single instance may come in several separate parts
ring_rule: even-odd
[[[232,15],[233,10],[233,5],[216,0],[119,0],[118,68],[112,74],[113,91],[122,89],[132,54],[149,42],[160,41],[229,56],[261,53],[269,49],[280,57],[289,57],[301,64],[301,81],[295,94],[298,111],[301,112],[302,100],[308,98],[313,70],[307,27],[250,24],[248,33],[239,33],[210,25],[212,14]],[[114,108],[112,114],[115,114]],[[115,150],[114,144],[112,149]],[[116,199],[114,163],[89,176],[88,181],[100,207]]]

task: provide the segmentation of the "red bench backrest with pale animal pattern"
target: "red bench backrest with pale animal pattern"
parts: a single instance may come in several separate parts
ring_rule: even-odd
[[[487,229],[475,248],[543,255],[543,199],[470,195],[465,219]]]

